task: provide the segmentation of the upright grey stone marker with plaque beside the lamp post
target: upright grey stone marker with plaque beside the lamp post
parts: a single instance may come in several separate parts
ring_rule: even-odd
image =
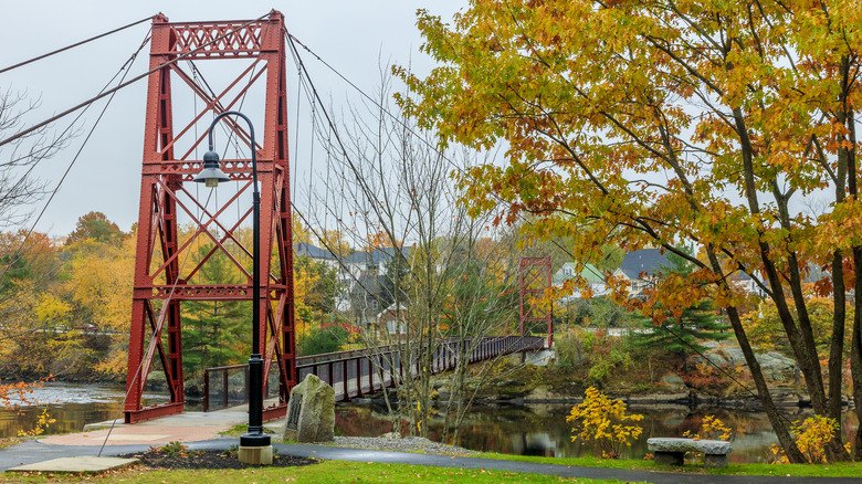
[[[335,390],[325,381],[308,375],[291,390],[284,440],[332,442],[335,440]]]

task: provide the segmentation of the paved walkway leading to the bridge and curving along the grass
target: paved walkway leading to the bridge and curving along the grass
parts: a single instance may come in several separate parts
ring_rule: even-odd
[[[193,450],[225,450],[239,444],[238,438],[221,436],[218,433],[236,424],[245,423],[244,409],[235,408],[219,412],[188,412],[134,425],[118,424],[111,432],[103,456],[145,452],[150,445],[171,441],[186,443]],[[55,435],[30,440],[0,450],[0,471],[33,464],[57,457],[98,455],[107,430],[90,430],[67,435]],[[548,474],[561,477],[620,480],[622,482],[646,483],[726,483],[726,484],[862,484],[862,477],[787,477],[787,476],[738,476],[703,475],[671,472],[626,471],[606,467],[578,467],[557,464],[501,461],[476,457],[453,457],[448,455],[416,454],[406,452],[343,449],[328,445],[273,444],[281,455],[296,455],[324,460],[354,462],[402,463],[432,465],[449,469],[488,469],[500,471]],[[780,466],[776,466],[780,472]]]

